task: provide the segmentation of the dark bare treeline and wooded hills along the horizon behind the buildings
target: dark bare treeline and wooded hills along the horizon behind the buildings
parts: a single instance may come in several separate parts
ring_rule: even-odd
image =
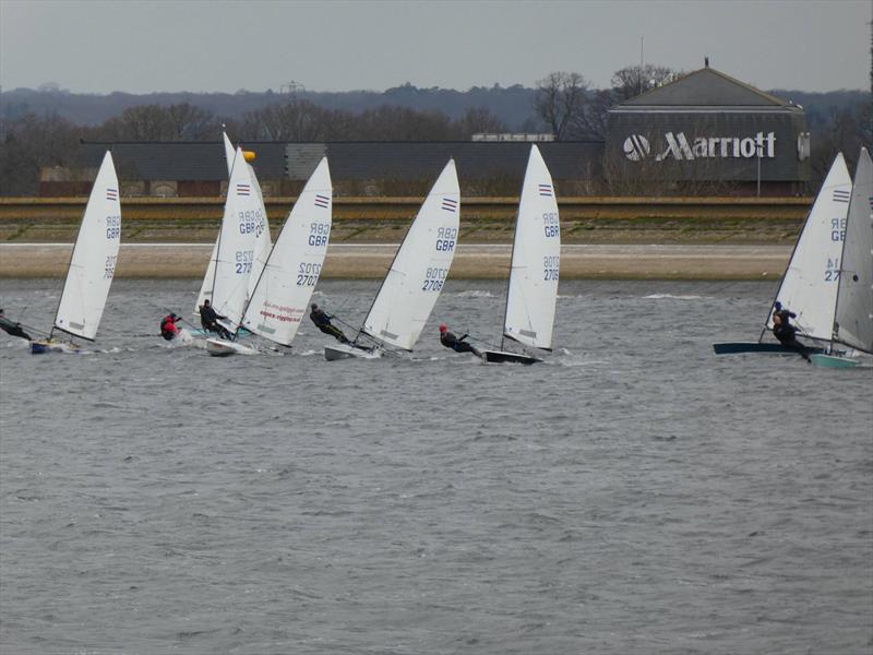
[[[410,84],[384,94],[314,94],[332,99],[325,103],[316,103],[307,97],[313,94],[299,90],[261,94],[266,100],[262,98],[260,104],[252,100],[253,94],[243,93],[238,95],[246,103],[239,106],[248,108],[236,114],[216,112],[200,104],[204,96],[214,99],[223,94],[179,94],[187,99],[128,106],[98,123],[82,117],[79,120],[65,117],[69,111],[63,108],[69,107],[61,100],[69,97],[59,90],[41,92],[40,95],[56,100],[41,110],[34,110],[33,98],[21,97],[19,91],[4,92],[0,94],[0,193],[36,194],[40,167],[74,166],[81,140],[217,141],[224,129],[235,141],[242,142],[466,141],[479,132],[507,131],[548,132],[558,140],[599,140],[606,134],[610,107],[682,74],[651,64],[627,67],[615,71],[608,90],[594,90],[579,73],[553,72],[533,90],[521,86],[470,90],[469,98],[482,104],[463,108],[458,98],[464,94],[459,92],[419,90]],[[366,94],[368,102],[381,97],[383,104],[358,110],[336,106],[337,98],[354,94]],[[861,144],[873,141],[870,94],[780,92],[779,95],[798,104],[806,103],[804,109],[812,132],[815,171],[812,191],[817,189],[838,151],[844,152],[851,164]],[[125,94],[103,97],[116,96],[135,97]],[[427,108],[427,98],[433,97],[451,99],[451,111]],[[506,109],[495,106],[494,98],[511,98],[516,107],[513,116],[527,118],[521,124],[505,120]],[[833,103],[828,104],[827,98]]]

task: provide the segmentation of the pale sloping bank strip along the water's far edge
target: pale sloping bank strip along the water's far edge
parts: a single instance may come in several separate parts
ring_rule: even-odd
[[[381,278],[399,243],[332,243],[324,279]],[[0,278],[60,277],[71,243],[0,243]],[[118,278],[200,278],[212,243],[122,243]],[[509,243],[458,245],[450,278],[502,279]],[[561,247],[562,279],[778,279],[791,254],[777,245],[582,245]]]

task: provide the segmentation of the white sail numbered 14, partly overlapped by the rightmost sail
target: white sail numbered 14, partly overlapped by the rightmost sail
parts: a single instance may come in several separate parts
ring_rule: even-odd
[[[776,300],[798,314],[804,336],[830,340],[852,181],[837,155],[813,202],[788,262]],[[767,319],[773,330],[773,314]]]

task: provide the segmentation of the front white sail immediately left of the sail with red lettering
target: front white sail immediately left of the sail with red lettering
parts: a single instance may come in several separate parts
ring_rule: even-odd
[[[239,325],[254,267],[254,235],[263,210],[251,184],[249,166],[237,148],[227,187],[227,201],[218,234],[212,305],[218,314]]]

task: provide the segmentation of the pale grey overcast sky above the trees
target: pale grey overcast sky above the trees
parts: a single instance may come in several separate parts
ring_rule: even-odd
[[[763,90],[870,88],[870,0],[179,1],[0,0],[0,85],[124,91],[465,91],[594,87],[704,56]]]

